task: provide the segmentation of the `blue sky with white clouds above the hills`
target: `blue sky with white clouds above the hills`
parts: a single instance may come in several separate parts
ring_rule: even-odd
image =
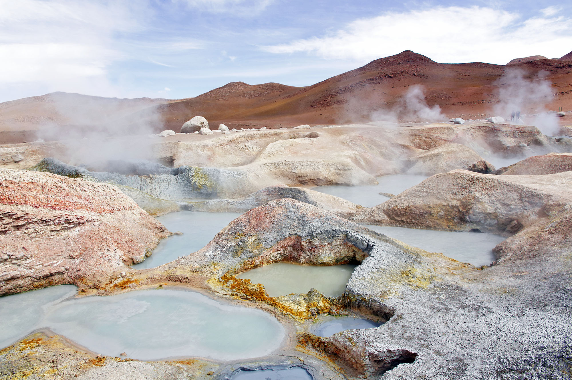
[[[559,58],[572,50],[572,3],[0,0],[0,102],[309,86],[403,50],[442,63]]]

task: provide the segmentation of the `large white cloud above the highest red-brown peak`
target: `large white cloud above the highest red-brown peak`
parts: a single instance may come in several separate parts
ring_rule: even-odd
[[[572,46],[572,20],[552,17],[522,20],[518,13],[486,7],[437,7],[388,12],[358,19],[335,33],[284,45],[266,46],[273,53],[307,52],[325,59],[367,61],[412,50],[438,62],[506,64],[529,55],[561,56]]]

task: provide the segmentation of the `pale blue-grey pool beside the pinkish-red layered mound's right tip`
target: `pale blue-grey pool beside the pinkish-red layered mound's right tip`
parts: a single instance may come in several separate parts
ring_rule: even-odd
[[[216,236],[221,229],[241,214],[236,212],[172,212],[157,218],[169,231],[182,232],[161,240],[153,254],[133,269],[155,268],[176,260],[180,256],[196,252]]]

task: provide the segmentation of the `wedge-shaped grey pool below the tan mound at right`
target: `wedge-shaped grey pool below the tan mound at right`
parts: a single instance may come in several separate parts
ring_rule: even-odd
[[[472,265],[490,265],[495,260],[492,248],[506,237],[492,233],[434,231],[404,227],[380,227],[364,224],[365,227],[383,233],[408,245],[428,252],[440,252],[447,257]]]

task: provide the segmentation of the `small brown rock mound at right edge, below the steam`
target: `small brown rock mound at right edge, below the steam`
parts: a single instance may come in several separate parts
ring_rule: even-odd
[[[502,175],[543,175],[572,171],[572,153],[532,156],[500,169]]]

